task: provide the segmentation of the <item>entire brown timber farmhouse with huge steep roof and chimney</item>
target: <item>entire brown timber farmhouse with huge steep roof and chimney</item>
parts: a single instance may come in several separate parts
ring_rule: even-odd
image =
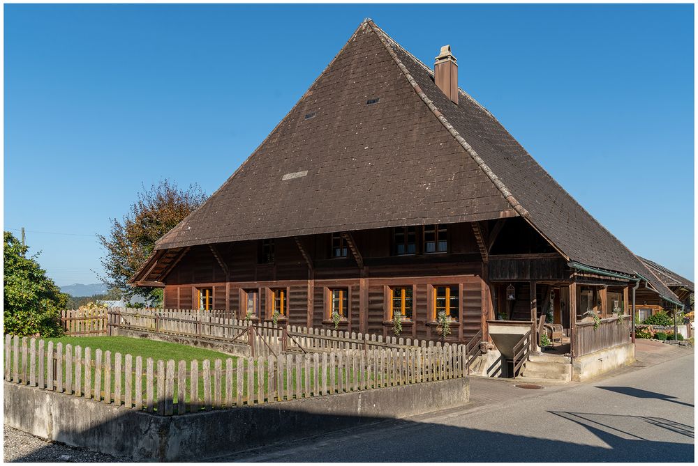
[[[504,359],[550,330],[566,364],[630,345],[638,286],[680,303],[459,88],[449,46],[433,67],[362,22],[132,283],[164,288],[167,308],[288,325],[335,315],[388,336],[399,316],[412,339],[443,338],[447,316],[446,341]]]

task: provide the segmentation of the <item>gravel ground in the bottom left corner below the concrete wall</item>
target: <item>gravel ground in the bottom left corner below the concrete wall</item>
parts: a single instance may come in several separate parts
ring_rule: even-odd
[[[123,461],[104,453],[47,442],[7,426],[3,429],[3,444],[5,463],[118,463]]]

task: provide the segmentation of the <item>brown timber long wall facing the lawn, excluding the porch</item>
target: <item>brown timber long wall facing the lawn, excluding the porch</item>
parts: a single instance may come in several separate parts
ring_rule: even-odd
[[[346,235],[346,257],[340,258],[332,257],[332,234],[276,238],[272,263],[260,263],[261,241],[191,247],[163,277],[165,307],[199,309],[200,293],[210,290],[212,309],[244,318],[248,293],[256,292],[253,319],[272,320],[274,290],[283,290],[281,323],[334,327],[330,296],[340,289],[347,294],[341,329],[388,335],[391,290],[408,287],[413,313],[403,321],[402,336],[436,339],[435,287],[451,286],[458,289],[459,307],[447,341],[466,341],[491,316],[489,287],[470,224],[446,229],[447,251],[433,254],[423,251],[422,226],[415,227],[415,254],[394,254],[392,228]]]

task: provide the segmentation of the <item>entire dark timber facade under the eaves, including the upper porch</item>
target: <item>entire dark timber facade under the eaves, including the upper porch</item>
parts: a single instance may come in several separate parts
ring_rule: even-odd
[[[436,340],[441,339],[436,290],[449,287],[452,293],[457,290],[457,311],[452,307],[452,333],[445,340],[459,342],[480,331],[489,340],[491,319],[533,323],[542,314],[551,314],[571,337],[573,322],[593,320],[591,311],[600,318],[611,317],[618,308],[630,313],[629,281],[575,272],[542,238],[531,235],[522,219],[440,226],[446,231],[447,246],[431,254],[425,251],[424,231],[432,227],[409,228],[414,254],[396,253],[396,237],[403,228],[187,248],[161,277],[165,308],[209,306],[244,318],[249,302],[252,320],[270,321],[276,309],[281,311],[277,319],[281,324],[334,328],[332,294],[341,290],[346,304],[339,329],[387,336],[393,334],[393,290],[405,288],[411,292],[412,312],[403,320],[400,336]],[[334,258],[338,238],[346,256]],[[270,244],[273,261],[264,263]],[[507,296],[510,288],[514,299]]]

